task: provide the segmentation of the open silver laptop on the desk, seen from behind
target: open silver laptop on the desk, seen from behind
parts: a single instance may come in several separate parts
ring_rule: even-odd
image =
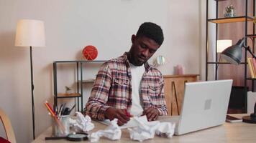
[[[186,83],[180,116],[160,121],[175,123],[175,135],[224,124],[232,82],[227,79]]]

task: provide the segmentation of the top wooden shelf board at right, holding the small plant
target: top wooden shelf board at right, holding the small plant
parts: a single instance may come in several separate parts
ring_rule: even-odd
[[[237,17],[229,17],[229,18],[220,18],[220,19],[208,19],[209,22],[216,24],[225,24],[232,22],[242,22],[242,21],[253,21],[253,18],[250,16],[237,16]]]

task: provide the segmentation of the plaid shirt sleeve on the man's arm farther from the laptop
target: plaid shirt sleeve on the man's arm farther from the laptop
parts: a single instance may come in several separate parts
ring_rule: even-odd
[[[111,87],[111,71],[108,64],[104,63],[96,76],[96,81],[91,89],[91,97],[85,107],[84,114],[92,119],[104,120],[105,112],[109,106],[106,105]]]

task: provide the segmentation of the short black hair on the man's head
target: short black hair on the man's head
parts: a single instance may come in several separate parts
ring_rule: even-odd
[[[163,30],[159,25],[152,22],[145,22],[141,24],[136,36],[146,36],[147,38],[154,40],[160,46],[163,44]]]

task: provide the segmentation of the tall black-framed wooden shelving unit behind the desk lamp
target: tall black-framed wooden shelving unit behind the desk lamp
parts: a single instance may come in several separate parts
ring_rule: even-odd
[[[219,36],[218,36],[218,26],[219,24],[230,24],[230,23],[235,23],[235,22],[242,22],[244,24],[243,28],[244,29],[244,34],[241,34],[241,39],[244,37],[244,36],[247,36],[247,37],[250,37],[253,41],[255,40],[256,38],[256,34],[255,34],[255,24],[253,24],[253,20],[254,20],[254,16],[255,16],[255,0],[252,0],[250,1],[251,3],[253,4],[248,4],[248,0],[243,0],[242,2],[244,3],[244,8],[242,6],[237,6],[236,9],[244,9],[244,13],[240,16],[234,16],[234,17],[218,17],[219,16],[219,12],[220,12],[220,9],[219,9],[219,6],[221,4],[225,4],[225,2],[222,2],[222,1],[227,1],[227,0],[212,0],[212,1],[215,1],[216,2],[216,19],[212,19],[209,18],[209,1],[210,0],[207,0],[206,1],[206,80],[208,80],[208,76],[209,76],[209,65],[214,65],[214,78],[215,80],[218,80],[218,66],[219,64],[230,64],[228,62],[221,62],[221,61],[218,61],[219,59],[219,54],[218,53],[214,53],[214,59],[211,59],[209,60],[209,49],[213,49],[215,48],[215,51],[217,49],[217,47],[210,47],[209,46],[209,35],[208,35],[208,31],[209,31],[209,26],[208,24],[209,23],[214,23],[216,24],[216,28],[215,28],[215,31],[216,31],[216,35],[215,35],[215,39],[218,40],[219,39]],[[233,0],[228,0],[230,1],[230,3],[232,4]],[[249,6],[253,5],[253,13],[249,12]],[[248,26],[252,26],[250,24],[253,24],[253,31],[248,31]],[[234,29],[235,30],[235,29]],[[227,37],[228,38],[228,37]],[[236,41],[234,41],[236,42]],[[215,41],[216,43],[216,41]],[[235,43],[233,43],[235,44]],[[245,44],[247,44],[247,41],[245,41]],[[254,46],[255,46],[255,42],[252,42],[252,51],[254,52]],[[248,88],[247,88],[247,81],[252,81],[252,91],[253,91],[253,87],[254,87],[254,81],[256,79],[252,79],[252,78],[249,78],[247,77],[247,52],[245,51],[244,52],[244,62],[242,62],[242,66],[244,66],[244,79],[243,79],[243,82],[244,84],[242,85],[242,89],[244,91],[244,107],[242,107],[242,110],[243,112],[246,112],[247,111],[247,91],[248,91]]]

